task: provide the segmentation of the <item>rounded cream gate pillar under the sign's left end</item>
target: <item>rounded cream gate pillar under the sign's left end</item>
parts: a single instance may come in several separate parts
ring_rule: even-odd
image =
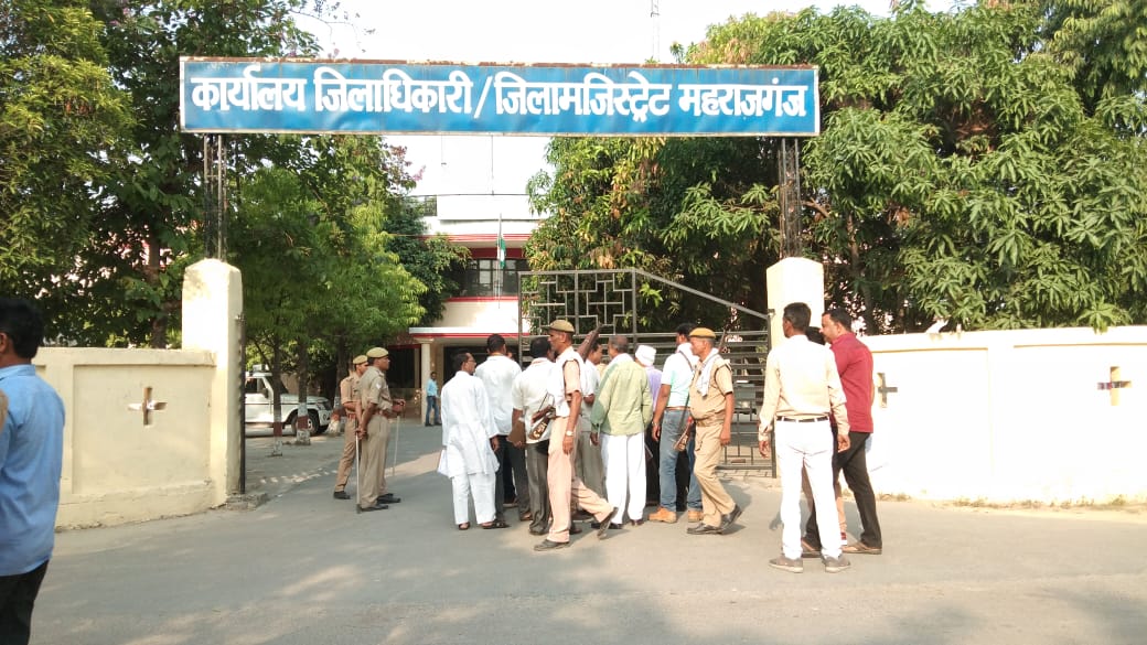
[[[243,425],[239,397],[243,374],[240,333],[243,282],[239,270],[218,259],[204,259],[184,273],[184,349],[214,353],[211,380],[211,438],[208,473],[214,482],[214,503],[239,492]]]

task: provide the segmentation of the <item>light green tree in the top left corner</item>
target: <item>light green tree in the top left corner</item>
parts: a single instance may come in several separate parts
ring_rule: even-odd
[[[100,30],[81,2],[0,8],[0,290],[9,295],[84,289],[70,274],[131,126]],[[65,311],[46,309],[49,334]]]

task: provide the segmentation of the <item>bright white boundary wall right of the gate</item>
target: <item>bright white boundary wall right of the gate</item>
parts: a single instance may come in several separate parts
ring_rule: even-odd
[[[863,336],[879,494],[1147,500],[1147,327]],[[843,480],[843,477],[842,477]]]

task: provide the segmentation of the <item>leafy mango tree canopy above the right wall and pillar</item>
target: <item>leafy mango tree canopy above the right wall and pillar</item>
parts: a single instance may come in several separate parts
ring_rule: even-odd
[[[804,249],[829,301],[869,332],[1145,322],[1147,173],[1131,169],[1147,162],[1147,65],[1144,39],[1115,20],[1145,3],[1092,5],[748,15],[711,28],[685,62],[819,68]],[[633,265],[763,309],[779,259],[777,147],[557,140],[555,171],[532,184],[554,217],[531,263]]]

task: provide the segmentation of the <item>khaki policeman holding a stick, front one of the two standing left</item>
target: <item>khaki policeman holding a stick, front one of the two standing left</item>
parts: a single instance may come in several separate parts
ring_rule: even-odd
[[[403,413],[404,399],[390,397],[387,371],[390,352],[381,347],[366,352],[367,368],[359,380],[359,427],[361,438],[362,490],[358,491],[358,511],[382,511],[401,502],[387,492],[387,445],[391,420]]]

